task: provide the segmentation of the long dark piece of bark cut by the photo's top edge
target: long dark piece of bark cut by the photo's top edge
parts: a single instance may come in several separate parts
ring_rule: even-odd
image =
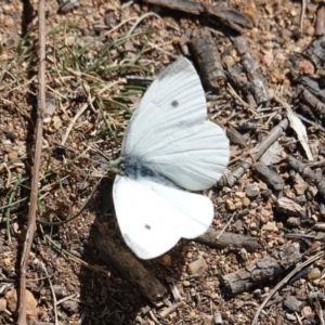
[[[211,21],[217,20],[239,32],[248,25],[248,20],[243,14],[235,10],[227,9],[224,5],[212,5],[187,0],[142,0],[142,2],[186,12]]]

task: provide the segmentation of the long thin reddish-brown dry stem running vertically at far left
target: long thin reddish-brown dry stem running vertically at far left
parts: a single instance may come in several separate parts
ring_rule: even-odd
[[[31,248],[34,234],[36,231],[36,210],[39,169],[41,161],[42,133],[43,133],[43,110],[46,107],[46,14],[44,0],[38,2],[38,24],[39,24],[39,64],[38,64],[38,102],[37,102],[37,123],[34,167],[31,176],[31,188],[29,199],[29,211],[27,232],[22,251],[21,260],[21,287],[17,325],[26,325],[26,269]]]

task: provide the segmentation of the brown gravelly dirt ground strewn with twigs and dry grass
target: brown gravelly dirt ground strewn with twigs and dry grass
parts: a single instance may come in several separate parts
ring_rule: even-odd
[[[26,275],[29,324],[230,325],[253,324],[257,314],[256,324],[325,324],[325,261],[318,255],[325,237],[324,57],[308,51],[322,41],[323,2],[232,0],[229,9],[238,16],[232,12],[223,20],[147,1],[70,3],[46,4],[47,108],[38,223]],[[230,22],[239,13],[247,24],[234,30]],[[37,14],[36,0],[0,0],[1,325],[17,320],[35,145]],[[208,84],[195,56],[193,35],[204,27],[227,70],[217,87]],[[211,231],[256,245],[213,246],[216,236],[181,240],[161,258],[140,260],[166,290],[153,303],[116,268],[119,250],[110,262],[99,248],[101,224],[109,240],[127,249],[113,212],[114,179],[99,152],[107,159],[118,156],[146,89],[141,78],[154,78],[179,55],[195,63],[209,118],[231,141],[227,179],[208,193],[216,210]],[[245,72],[244,57],[253,63],[253,76]],[[262,80],[265,93],[255,93],[250,77]],[[318,86],[314,102],[303,82]],[[195,261],[202,268],[191,274]],[[244,289],[235,291],[232,274]]]

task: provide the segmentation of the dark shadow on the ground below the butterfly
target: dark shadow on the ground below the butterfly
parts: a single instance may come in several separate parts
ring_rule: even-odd
[[[179,280],[182,268],[174,265],[184,264],[186,242],[168,252],[173,266],[169,259],[144,261],[131,252],[117,225],[112,190],[112,180],[104,179],[89,205],[95,217],[82,249],[86,266],[78,274],[82,324],[138,324],[147,317],[144,310],[161,306],[170,295],[167,280]]]

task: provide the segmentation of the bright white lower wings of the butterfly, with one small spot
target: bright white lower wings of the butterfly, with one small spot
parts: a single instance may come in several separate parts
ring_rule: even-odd
[[[113,196],[122,237],[142,259],[165,253],[181,237],[202,235],[213,219],[208,197],[145,178],[117,176]]]

